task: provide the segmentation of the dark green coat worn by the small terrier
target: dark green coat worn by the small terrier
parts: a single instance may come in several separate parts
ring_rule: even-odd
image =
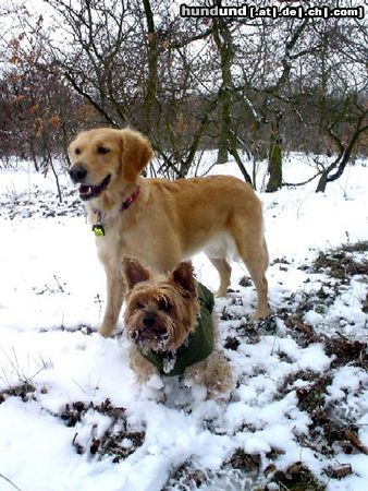
[[[175,354],[142,351],[146,360],[158,368],[161,375],[183,375],[187,367],[205,360],[213,351],[214,298],[211,291],[200,283],[198,283],[198,300],[200,304],[198,324]]]

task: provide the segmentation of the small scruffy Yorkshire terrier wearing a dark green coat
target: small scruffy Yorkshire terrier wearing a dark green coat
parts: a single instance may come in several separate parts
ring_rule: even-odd
[[[125,258],[123,274],[125,332],[133,342],[130,362],[137,382],[154,374],[184,375],[186,385],[205,385],[209,397],[229,392],[232,370],[216,347],[213,295],[196,282],[192,263],[182,262],[163,276]]]

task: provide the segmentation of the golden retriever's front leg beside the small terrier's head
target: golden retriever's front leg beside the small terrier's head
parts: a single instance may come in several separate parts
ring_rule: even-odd
[[[107,274],[107,306],[103,322],[98,330],[101,336],[109,337],[118,323],[124,299],[124,280],[120,275],[106,271]]]

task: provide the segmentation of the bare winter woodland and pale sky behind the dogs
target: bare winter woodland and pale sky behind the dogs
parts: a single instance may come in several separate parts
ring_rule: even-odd
[[[180,3],[4,2],[0,165],[29,159],[58,173],[56,161],[68,166],[79,130],[126,124],[151,140],[159,161],[151,173],[185,177],[216,148],[217,161],[232,156],[255,188],[267,159],[269,192],[285,184],[290,152],[309,156],[316,191],[367,155],[368,29],[366,17],[354,16],[357,5],[366,13],[366,1],[327,0],[331,16],[303,19],[262,13],[321,3],[258,1],[254,19],[182,17]],[[346,16],[333,16],[336,8]]]

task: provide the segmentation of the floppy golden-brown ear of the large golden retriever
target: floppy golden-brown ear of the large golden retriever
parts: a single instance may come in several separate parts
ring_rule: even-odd
[[[134,183],[149,160],[154,157],[150,143],[137,131],[121,130],[122,172],[126,182]]]

